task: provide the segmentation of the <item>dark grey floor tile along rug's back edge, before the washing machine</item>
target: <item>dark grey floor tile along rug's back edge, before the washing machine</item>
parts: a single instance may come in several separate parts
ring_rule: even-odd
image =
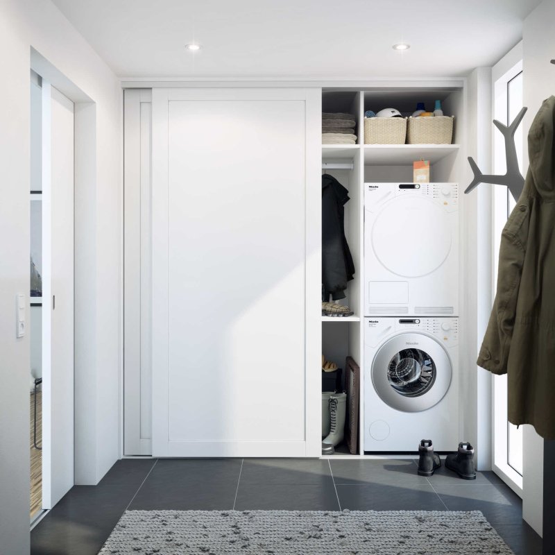
[[[336,486],[341,509],[352,511],[445,511],[429,484]]]

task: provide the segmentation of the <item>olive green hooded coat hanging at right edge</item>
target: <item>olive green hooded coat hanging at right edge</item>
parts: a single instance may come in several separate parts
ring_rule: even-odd
[[[528,134],[524,190],[502,232],[499,277],[478,364],[507,373],[509,421],[555,439],[555,96]]]

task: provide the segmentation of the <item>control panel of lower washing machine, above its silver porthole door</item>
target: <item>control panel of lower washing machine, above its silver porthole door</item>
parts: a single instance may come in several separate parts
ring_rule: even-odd
[[[365,318],[365,323],[366,341],[370,345],[377,345],[390,335],[408,330],[420,330],[433,335],[447,348],[459,343],[459,318],[400,316],[397,318]]]

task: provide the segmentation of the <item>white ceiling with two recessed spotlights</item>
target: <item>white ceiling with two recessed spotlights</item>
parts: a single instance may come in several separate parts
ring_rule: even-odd
[[[540,0],[53,0],[121,77],[462,76]],[[202,51],[184,46],[199,42]],[[400,53],[391,46],[409,42]]]

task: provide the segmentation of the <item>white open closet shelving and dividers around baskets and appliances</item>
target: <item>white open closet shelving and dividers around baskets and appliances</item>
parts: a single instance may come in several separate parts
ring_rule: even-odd
[[[447,115],[455,116],[453,144],[364,144],[364,112],[382,108],[398,108],[412,112],[416,103],[433,105],[442,101]],[[326,171],[349,190],[350,200],[345,205],[345,236],[355,261],[355,279],[349,282],[346,298],[341,302],[355,311],[356,316],[333,318],[322,316],[322,349],[325,357],[344,368],[345,357],[350,355],[361,369],[359,407],[359,450],[349,454],[346,445],[336,448],[328,458],[391,458],[391,454],[364,454],[361,426],[364,422],[364,183],[412,182],[412,164],[416,160],[429,160],[430,178],[436,182],[460,182],[465,161],[463,147],[463,89],[456,87],[377,87],[371,90],[324,90],[323,112],[348,112],[357,115],[357,144],[322,146],[322,162],[348,163],[352,169]],[[407,458],[407,455],[393,455]]]

